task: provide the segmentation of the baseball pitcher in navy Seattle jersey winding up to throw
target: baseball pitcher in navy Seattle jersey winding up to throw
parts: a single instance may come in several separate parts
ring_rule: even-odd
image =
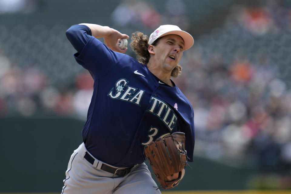
[[[149,194],[178,185],[193,161],[194,115],[171,77],[179,75],[192,36],[175,25],[161,25],[149,37],[135,32],[133,59],[118,46],[129,36],[107,26],[73,25],[66,35],[94,90],[62,193]]]

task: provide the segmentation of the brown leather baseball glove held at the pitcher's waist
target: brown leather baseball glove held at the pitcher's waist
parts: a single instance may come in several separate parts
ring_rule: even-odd
[[[152,166],[156,179],[164,189],[177,186],[184,176],[184,166],[187,165],[187,152],[185,148],[185,133],[175,132],[158,138],[145,146],[145,155]],[[179,173],[175,180],[168,181],[167,176]]]

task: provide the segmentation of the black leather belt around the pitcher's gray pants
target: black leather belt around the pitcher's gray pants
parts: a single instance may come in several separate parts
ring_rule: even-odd
[[[95,159],[92,156],[90,156],[90,154],[88,152],[85,153],[84,158],[88,162],[90,162],[92,165],[94,164]],[[106,165],[106,164],[103,163],[102,166],[101,166],[101,170],[104,170],[106,172],[110,172],[110,173],[112,173],[114,175],[117,175],[119,177],[122,177],[122,176],[125,176],[127,173],[129,173],[130,170],[132,169],[132,167],[128,167],[128,168],[114,168],[114,167],[108,166],[108,165]]]

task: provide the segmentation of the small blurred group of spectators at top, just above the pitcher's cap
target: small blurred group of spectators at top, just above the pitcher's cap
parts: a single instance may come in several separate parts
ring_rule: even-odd
[[[138,27],[156,29],[161,23],[179,25],[187,30],[190,18],[186,15],[186,4],[182,0],[167,0],[163,10],[147,1],[122,1],[112,12],[112,20],[119,27]],[[122,16],[122,17],[121,17]]]

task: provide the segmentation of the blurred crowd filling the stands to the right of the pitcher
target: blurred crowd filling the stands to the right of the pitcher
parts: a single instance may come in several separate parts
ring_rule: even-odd
[[[209,158],[290,174],[291,9],[282,3],[233,8],[224,28],[198,39],[183,61],[180,87]],[[270,37],[284,39],[266,44]]]

